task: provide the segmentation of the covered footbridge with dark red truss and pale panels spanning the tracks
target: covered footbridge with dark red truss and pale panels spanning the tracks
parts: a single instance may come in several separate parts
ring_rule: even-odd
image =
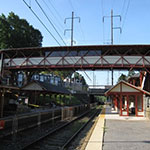
[[[13,48],[0,55],[4,70],[150,69],[150,45]]]

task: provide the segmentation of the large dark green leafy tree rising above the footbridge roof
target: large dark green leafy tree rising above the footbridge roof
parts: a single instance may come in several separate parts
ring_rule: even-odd
[[[0,48],[41,47],[42,34],[13,12],[0,16]]]

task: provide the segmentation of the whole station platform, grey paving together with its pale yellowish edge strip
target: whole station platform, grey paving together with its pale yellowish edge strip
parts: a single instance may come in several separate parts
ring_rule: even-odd
[[[144,117],[120,117],[104,107],[86,150],[149,150],[150,121]]]

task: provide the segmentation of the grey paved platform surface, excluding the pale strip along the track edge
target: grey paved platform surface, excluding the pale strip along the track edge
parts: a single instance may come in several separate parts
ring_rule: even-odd
[[[150,121],[120,117],[107,107],[103,150],[150,150]]]

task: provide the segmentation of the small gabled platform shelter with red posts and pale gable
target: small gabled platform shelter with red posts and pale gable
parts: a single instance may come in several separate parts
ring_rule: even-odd
[[[106,93],[110,96],[112,107],[120,116],[144,117],[150,93],[130,83],[120,81]]]

